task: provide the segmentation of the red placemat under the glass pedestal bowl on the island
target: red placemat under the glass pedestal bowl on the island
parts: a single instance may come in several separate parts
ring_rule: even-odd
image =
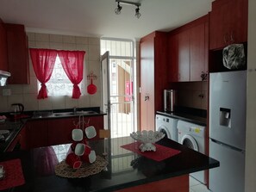
[[[162,161],[162,160],[165,160],[165,158],[171,158],[172,156],[177,155],[180,152],[176,149],[172,149],[166,146],[160,146],[158,144],[153,144],[154,146],[156,146],[155,152],[153,151],[141,152],[140,145],[141,145],[140,142],[134,142],[121,147],[129,151],[136,152],[140,155],[143,155],[146,158],[152,158],[155,161]]]

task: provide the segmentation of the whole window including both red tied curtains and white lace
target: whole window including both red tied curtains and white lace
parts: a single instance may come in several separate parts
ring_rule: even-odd
[[[40,82],[38,87],[41,87],[37,99],[47,98],[47,85],[50,86],[51,96],[70,95],[71,83],[73,84],[72,98],[78,99],[82,95],[80,87],[84,87],[81,86],[84,79],[84,51],[30,48],[29,52],[35,75]],[[51,80],[50,83],[47,83],[49,80]]]

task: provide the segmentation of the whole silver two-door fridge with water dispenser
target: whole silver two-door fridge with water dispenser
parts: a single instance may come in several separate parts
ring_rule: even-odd
[[[245,189],[247,71],[209,74],[209,157],[220,167],[209,170],[212,192]]]

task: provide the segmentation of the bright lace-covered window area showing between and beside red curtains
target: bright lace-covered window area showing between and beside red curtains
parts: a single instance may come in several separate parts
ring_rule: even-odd
[[[84,68],[85,70],[85,68]],[[85,74],[85,71],[84,71]],[[85,75],[84,75],[85,77]],[[83,80],[78,87],[81,90],[82,95],[85,94],[85,84],[86,78],[83,77]],[[60,63],[59,56],[57,55],[56,61],[53,68],[53,74],[50,80],[47,82],[47,95],[48,96],[72,96],[73,84],[66,76],[66,72],[63,69],[63,66]],[[37,89],[41,89],[40,81],[37,81]]]

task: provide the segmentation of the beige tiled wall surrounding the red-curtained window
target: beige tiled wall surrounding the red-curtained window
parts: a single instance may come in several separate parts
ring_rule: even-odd
[[[85,68],[87,74],[93,71],[97,80],[93,83],[100,88],[100,39],[91,37],[78,37],[59,34],[28,34],[28,46],[34,48],[51,48],[62,50],[85,51]],[[48,96],[47,99],[37,100],[37,80],[29,56],[30,84],[7,85],[0,87],[0,112],[9,112],[12,103],[20,102],[26,111],[47,110],[62,108],[88,108],[99,107],[101,104],[100,89],[95,95],[81,96],[79,99],[72,99],[71,96]],[[86,78],[86,74],[84,76]],[[87,82],[85,86],[90,82]],[[85,90],[86,90],[85,87]],[[10,90],[10,96],[3,96],[3,90]],[[86,91],[85,91],[86,92]]]

